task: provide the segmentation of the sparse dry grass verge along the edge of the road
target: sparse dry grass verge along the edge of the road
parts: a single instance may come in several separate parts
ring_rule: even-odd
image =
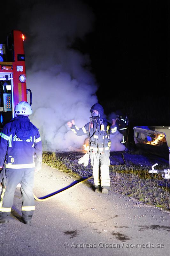
[[[79,156],[78,156],[79,157]],[[76,178],[89,177],[92,168],[89,164],[84,167],[77,164],[77,156],[69,153],[43,153],[43,164],[59,171],[69,173]],[[163,210],[170,210],[170,183],[162,178],[161,174],[148,173],[148,166],[135,164],[110,166],[110,190],[135,198],[143,204],[150,204]],[[165,166],[161,166],[165,168]],[[166,167],[167,168],[167,167]],[[93,179],[88,183],[94,185]]]

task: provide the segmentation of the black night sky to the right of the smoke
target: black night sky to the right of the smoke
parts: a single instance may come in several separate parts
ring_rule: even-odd
[[[169,126],[168,1],[83,2],[94,13],[93,31],[71,47],[89,54],[105,113],[119,110],[132,126]],[[9,3],[1,12],[3,36],[15,29],[22,6]]]

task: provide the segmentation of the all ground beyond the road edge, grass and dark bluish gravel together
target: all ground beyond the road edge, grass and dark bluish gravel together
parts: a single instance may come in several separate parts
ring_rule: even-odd
[[[89,177],[92,175],[90,161],[86,167],[77,164],[78,159],[84,154],[82,151],[44,153],[43,162],[61,171],[71,172],[76,177]],[[161,174],[148,173],[155,163],[158,163],[158,169],[169,168],[167,159],[125,151],[111,152],[110,161],[111,191],[135,198],[143,204],[151,204],[163,210],[170,209],[169,180],[162,178]],[[59,162],[63,164],[60,165]],[[93,179],[88,182],[94,185]]]

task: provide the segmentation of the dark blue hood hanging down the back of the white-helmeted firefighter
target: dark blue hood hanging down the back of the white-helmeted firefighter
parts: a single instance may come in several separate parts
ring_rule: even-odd
[[[15,134],[19,139],[27,140],[32,135],[32,129],[38,130],[29,120],[27,116],[17,116],[12,119],[10,132],[15,130]]]

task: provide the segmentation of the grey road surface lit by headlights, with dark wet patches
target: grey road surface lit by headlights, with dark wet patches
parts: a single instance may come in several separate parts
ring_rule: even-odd
[[[43,165],[34,193],[45,196],[75,180]],[[35,201],[31,225],[21,217],[16,188],[11,220],[0,224],[0,255],[168,255],[170,212],[110,191],[95,193],[87,183],[45,202]],[[154,247],[154,248],[153,248]]]

